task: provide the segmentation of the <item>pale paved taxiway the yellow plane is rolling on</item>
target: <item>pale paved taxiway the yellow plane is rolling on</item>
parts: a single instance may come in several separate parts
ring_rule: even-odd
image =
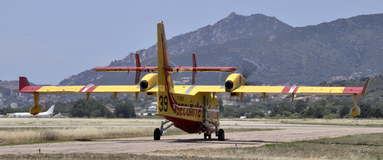
[[[60,126],[61,125],[55,127]],[[106,125],[105,127],[107,126],[110,127],[110,125]],[[150,125],[148,127],[155,126]],[[254,147],[276,142],[283,143],[303,139],[319,139],[322,137],[340,137],[345,135],[361,133],[383,132],[382,127],[294,125],[279,124],[275,122],[268,124],[268,122],[265,123],[250,121],[221,121],[220,128],[225,129],[242,127],[271,127],[285,130],[225,133],[225,141],[218,141],[218,138],[214,135],[212,135],[212,139],[203,139],[203,134],[173,136],[167,136],[166,134],[164,134],[164,136],[161,137],[160,141],[154,141],[153,137],[142,137],[129,139],[94,140],[86,142],[62,142],[33,145],[3,146],[0,147],[0,154],[38,153],[39,148],[41,149],[42,153],[146,153],[155,150],[174,150],[203,147],[226,148],[235,147],[236,144],[237,147]]]

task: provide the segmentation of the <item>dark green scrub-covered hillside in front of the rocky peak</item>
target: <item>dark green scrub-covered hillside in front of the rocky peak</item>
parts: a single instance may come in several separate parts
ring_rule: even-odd
[[[200,46],[172,55],[170,61],[173,66],[191,66],[191,53],[195,53],[198,66],[237,67],[237,73],[244,74],[248,85],[289,83],[304,86],[334,81],[333,76],[350,79],[349,76],[356,78],[359,74],[377,75],[383,73],[382,26],[383,14],[359,15],[319,25],[288,28],[262,37],[237,37],[221,44]],[[141,64],[157,65],[157,56],[145,59]],[[134,65],[123,61],[112,62],[111,66]],[[222,85],[228,75],[198,74],[196,84]],[[177,80],[190,77],[191,73],[173,76]],[[134,75],[88,70],[63,80],[60,85],[127,85],[133,82]]]

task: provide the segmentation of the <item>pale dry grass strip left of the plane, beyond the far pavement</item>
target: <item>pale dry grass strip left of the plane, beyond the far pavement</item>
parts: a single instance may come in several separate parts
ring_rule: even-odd
[[[1,118],[1,125],[160,125],[161,119]]]

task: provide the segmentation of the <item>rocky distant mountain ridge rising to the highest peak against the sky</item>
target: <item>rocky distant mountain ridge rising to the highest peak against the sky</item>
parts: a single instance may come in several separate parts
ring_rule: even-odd
[[[286,28],[291,28],[291,26],[275,17],[262,14],[243,16],[232,12],[228,17],[219,20],[214,25],[208,25],[196,31],[174,36],[167,40],[167,44],[169,54],[177,55],[201,46],[220,44],[228,40],[244,37],[264,36]],[[142,65],[148,66],[147,64],[153,61],[148,62],[146,60],[157,57],[157,44],[148,49],[141,49],[136,53],[139,53]],[[135,64],[134,59],[134,54],[131,52],[122,60],[112,61],[109,66],[132,66]],[[105,75],[105,73],[96,73],[90,69],[69,76],[69,78],[62,80],[59,85],[85,85],[87,82],[103,78]]]

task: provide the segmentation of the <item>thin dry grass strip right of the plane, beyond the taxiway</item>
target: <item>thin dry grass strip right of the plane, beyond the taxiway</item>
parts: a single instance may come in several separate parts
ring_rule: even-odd
[[[265,121],[266,123],[281,122],[284,124],[309,124],[309,125],[343,125],[343,126],[365,126],[383,127],[383,119],[221,119],[234,121]],[[267,122],[268,121],[268,122]],[[358,124],[358,125],[357,125]]]

